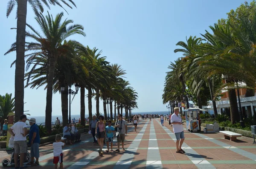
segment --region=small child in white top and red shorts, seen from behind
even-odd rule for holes
[[[55,143],[52,144],[53,146],[53,163],[54,168],[57,169],[58,163],[60,163],[60,168],[63,169],[63,154],[62,154],[62,146],[65,144],[61,142],[61,135],[56,134]]]

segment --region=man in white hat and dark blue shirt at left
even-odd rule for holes
[[[30,118],[29,125],[29,144],[31,144],[30,154],[31,154],[31,161],[27,165],[37,166],[39,165],[39,144],[40,144],[40,136],[39,136],[39,128],[38,125],[35,124],[35,118]],[[35,158],[35,163],[34,163]]]

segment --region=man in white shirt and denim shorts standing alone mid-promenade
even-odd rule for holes
[[[171,124],[173,127],[173,132],[175,133],[176,136],[176,149],[177,153],[185,153],[183,149],[181,149],[181,146],[185,140],[184,137],[184,131],[183,131],[183,125],[182,125],[182,119],[179,115],[179,107],[174,108],[174,113],[171,116]]]

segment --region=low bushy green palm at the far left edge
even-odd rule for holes
[[[12,98],[12,93],[0,95],[0,123],[7,118],[8,114],[15,111],[15,98]],[[3,123],[2,123],[3,124]]]

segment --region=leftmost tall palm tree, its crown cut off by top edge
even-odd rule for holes
[[[68,0],[74,6],[76,4],[73,0]],[[39,14],[44,11],[42,3],[44,3],[47,8],[50,8],[50,5],[61,6],[61,3],[58,0],[9,0],[7,3],[6,17],[9,17],[13,8],[17,5],[17,35],[16,35],[16,62],[15,65],[15,121],[18,121],[20,115],[24,111],[24,72],[25,72],[25,37],[26,37],[26,14],[27,14],[27,3],[29,3],[35,12]],[[66,0],[61,0],[62,3],[72,8]],[[63,8],[61,6],[61,8]],[[39,10],[39,11],[38,11]]]

